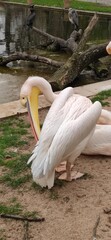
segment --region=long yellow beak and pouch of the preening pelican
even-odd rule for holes
[[[27,99],[27,109],[29,113],[30,123],[32,127],[32,131],[36,141],[39,140],[40,136],[40,124],[38,117],[38,95],[40,94],[40,90],[36,87],[32,88],[30,96]]]

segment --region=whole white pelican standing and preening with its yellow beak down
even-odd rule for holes
[[[52,103],[40,133],[37,98],[43,93]],[[66,161],[67,180],[71,180],[71,164],[83,152],[101,114],[101,104],[74,94],[68,87],[55,94],[42,77],[29,77],[20,93],[22,104],[27,103],[36,140],[29,162],[33,180],[42,187],[53,187],[55,168]]]

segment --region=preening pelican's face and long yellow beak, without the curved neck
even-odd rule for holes
[[[40,124],[38,117],[38,96],[41,91],[34,85],[32,77],[29,77],[23,84],[20,91],[20,102],[24,107],[27,107],[31,127],[34,137],[38,141],[40,136]]]

